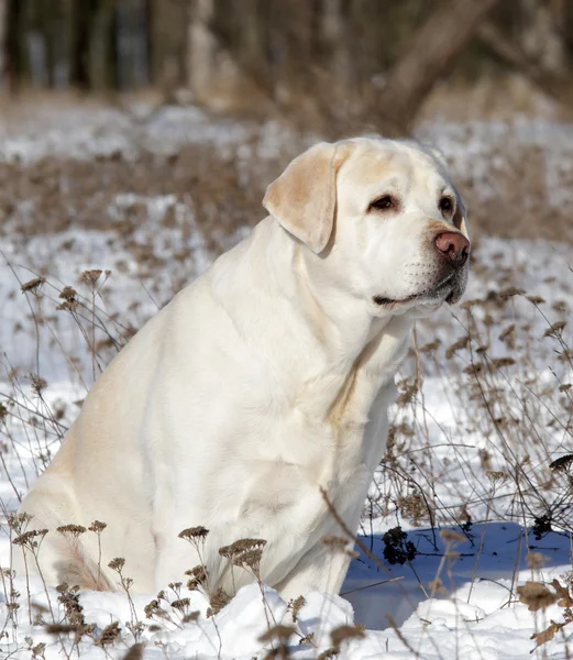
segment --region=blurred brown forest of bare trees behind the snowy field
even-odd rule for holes
[[[430,92],[517,72],[573,102],[573,0],[0,0],[0,85],[407,132]]]

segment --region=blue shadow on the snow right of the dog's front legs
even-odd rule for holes
[[[452,531],[461,534],[460,528],[452,528]],[[482,535],[483,547],[480,551]],[[385,543],[382,535],[359,538],[379,558],[382,565],[377,565],[356,548],[360,557],[350,565],[341,595],[352,603],[356,623],[370,629],[388,627],[388,616],[397,626],[401,626],[418,604],[428,597],[449,597],[461,590],[458,597],[467,600],[474,571],[475,582],[471,592],[473,598],[477,596],[484,581],[499,590],[502,600],[504,593],[506,602],[510,597],[515,598],[516,585],[511,594],[513,578],[515,575],[517,581],[519,571],[528,569],[529,552],[544,556],[546,570],[561,565],[563,572],[571,569],[571,547],[566,536],[549,532],[538,540],[530,529],[515,522],[473,525],[462,542],[450,544],[450,552],[459,554],[452,559],[444,557],[447,542],[440,538],[438,529],[412,529],[408,531],[407,540],[414,543],[416,557],[404,564],[389,564],[384,559]],[[437,576],[441,579],[447,595],[432,593],[430,583]],[[390,581],[393,579],[398,580]],[[383,584],[377,584],[383,581]]]

